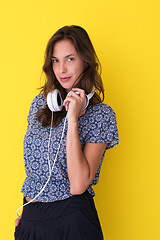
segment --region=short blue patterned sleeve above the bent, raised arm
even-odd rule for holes
[[[119,143],[116,114],[106,104],[91,108],[86,130],[86,143],[108,143],[106,150]]]

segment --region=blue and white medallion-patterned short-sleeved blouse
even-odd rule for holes
[[[33,199],[43,188],[49,177],[48,166],[48,141],[50,127],[42,127],[37,121],[36,113],[43,108],[46,100],[42,94],[36,96],[32,101],[29,115],[27,118],[28,127],[24,137],[24,164],[26,170],[26,179],[21,192],[24,197]],[[49,145],[49,159],[51,168],[59,147],[65,118],[56,128],[51,130],[51,140]],[[79,118],[79,136],[82,149],[86,143],[108,143],[106,150],[116,146],[119,143],[116,115],[113,109],[103,103],[99,103],[89,109]],[[39,202],[53,202],[66,199],[71,195],[70,183],[67,173],[66,163],[66,136],[67,123],[64,131],[64,137],[57,160],[55,162],[52,176],[44,191],[36,198]],[[106,152],[105,150],[105,152]],[[95,195],[92,185],[97,184],[105,152],[95,174],[88,192]]]

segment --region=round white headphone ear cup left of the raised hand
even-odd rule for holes
[[[52,112],[60,112],[63,108],[63,99],[61,92],[58,89],[54,89],[47,95],[47,105]]]

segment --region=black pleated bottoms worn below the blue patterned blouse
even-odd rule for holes
[[[28,204],[14,236],[15,240],[103,240],[94,200],[87,191],[61,201]]]

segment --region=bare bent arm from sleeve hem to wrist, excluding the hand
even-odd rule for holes
[[[86,143],[82,152],[78,123],[69,123],[67,131],[67,169],[70,192],[83,193],[94,179],[107,143]]]

